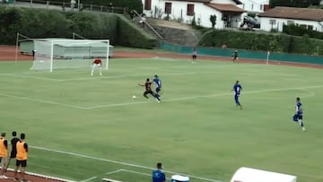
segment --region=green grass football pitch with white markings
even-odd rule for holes
[[[90,67],[30,67],[0,63],[0,130],[7,139],[26,133],[27,171],[148,182],[162,161],[167,178],[194,182],[229,182],[240,167],[323,181],[322,70],[170,58],[111,59],[102,77],[91,77]],[[160,104],[144,100],[138,86],[153,74],[162,79]],[[231,92],[236,80],[242,110]],[[292,122],[296,97],[306,132]]]

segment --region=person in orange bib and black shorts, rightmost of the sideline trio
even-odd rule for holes
[[[14,168],[14,179],[19,180],[19,178],[17,178],[17,173],[18,173],[18,169],[22,167],[21,169],[22,182],[28,181],[24,178],[24,173],[27,167],[27,159],[28,159],[28,144],[25,142],[25,137],[26,137],[25,134],[21,134],[21,138],[16,144],[17,156],[16,156],[16,166]]]

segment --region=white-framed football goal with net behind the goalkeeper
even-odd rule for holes
[[[33,39],[31,70],[90,67],[100,57],[109,68],[109,39]]]

